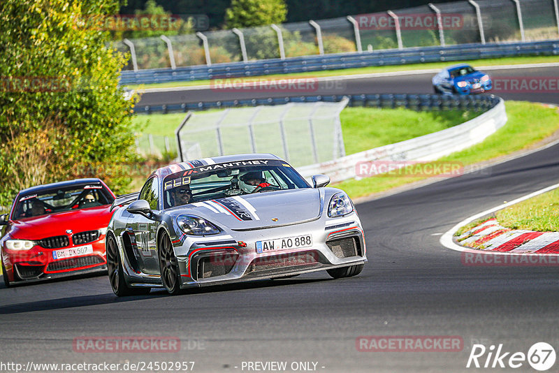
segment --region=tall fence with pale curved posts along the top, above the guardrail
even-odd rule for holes
[[[115,43],[132,54],[124,69],[405,47],[559,38],[559,0],[467,0],[330,20],[208,31]],[[133,45],[133,46],[131,46]],[[134,63],[136,61],[136,64]],[[136,67],[135,67],[136,66]]]

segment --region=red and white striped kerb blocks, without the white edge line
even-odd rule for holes
[[[559,254],[558,232],[513,230],[488,219],[458,236],[458,242],[472,249],[511,254]]]

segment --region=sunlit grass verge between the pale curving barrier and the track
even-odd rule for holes
[[[537,103],[507,101],[507,124],[483,142],[461,152],[445,156],[439,161],[457,161],[467,166],[472,163],[488,161],[512,152],[530,147],[551,136],[559,129],[559,112]],[[375,176],[362,180],[347,180],[336,184],[351,198],[368,196],[393,189],[411,182],[425,180],[427,177]]]

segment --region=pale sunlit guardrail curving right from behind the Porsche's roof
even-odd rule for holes
[[[344,156],[334,161],[299,167],[298,171],[310,179],[323,173],[333,182],[342,182],[357,176],[356,167],[363,162],[374,161],[435,161],[442,156],[459,152],[483,141],[507,122],[507,112],[502,98],[493,97],[493,107],[463,124],[453,126],[419,138],[377,147]]]

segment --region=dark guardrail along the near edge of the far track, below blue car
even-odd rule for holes
[[[412,110],[475,110],[485,111],[498,103],[493,95],[444,95],[444,94],[349,94],[333,96],[284,96],[274,98],[249,98],[230,101],[200,101],[173,105],[145,105],[134,108],[136,114],[168,112],[188,112],[220,108],[240,108],[242,106],[284,105],[286,103],[314,103],[318,101],[338,102],[349,98],[348,106],[371,108],[408,108]]]

